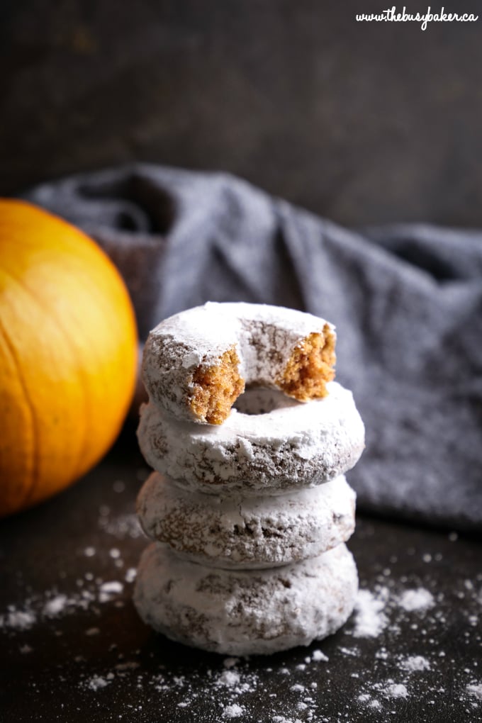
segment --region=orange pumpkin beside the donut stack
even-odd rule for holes
[[[132,304],[106,254],[60,218],[0,200],[0,515],[106,453],[136,369]]]

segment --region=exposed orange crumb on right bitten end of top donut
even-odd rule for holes
[[[335,335],[325,324],[322,333],[309,334],[293,349],[277,384],[298,401],[319,399],[327,395],[327,382],[335,378],[335,361]]]

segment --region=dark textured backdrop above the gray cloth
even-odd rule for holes
[[[482,20],[354,20],[389,5],[3,0],[0,193],[136,160],[348,225],[481,226]]]

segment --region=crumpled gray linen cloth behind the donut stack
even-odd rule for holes
[[[227,174],[132,165],[25,198],[81,226],[119,266],[145,339],[211,301],[304,309],[337,327],[337,380],[366,450],[358,508],[482,528],[482,234],[340,228]]]

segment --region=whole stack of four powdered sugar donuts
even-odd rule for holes
[[[165,636],[229,655],[334,633],[358,591],[345,546],[364,446],[335,330],[294,309],[216,304],[150,333],[138,437],[155,470],[134,603]]]

